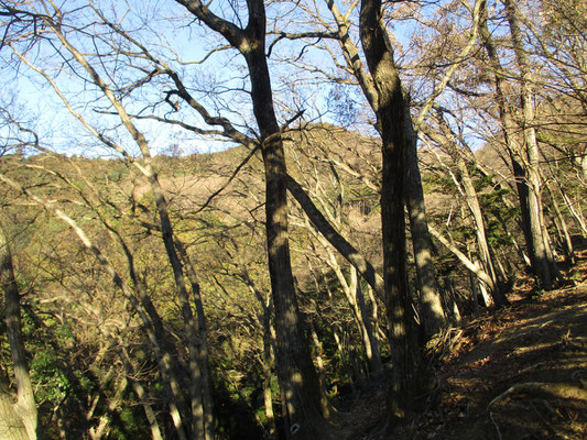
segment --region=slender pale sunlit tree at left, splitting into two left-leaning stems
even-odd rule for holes
[[[109,23],[106,16],[98,9],[94,8],[93,6],[89,8],[98,16],[98,19],[102,20],[107,26],[109,25],[115,35],[124,35],[119,29]],[[142,161],[135,161],[122,146],[100,133],[73,108],[65,95],[59,90],[56,81],[50,77],[47,70],[43,70],[43,68],[35,66],[30,59],[26,58],[25,54],[19,52],[17,46],[21,43],[22,38],[26,38],[25,35],[17,33],[12,40],[7,40],[8,45],[12,48],[15,56],[48,82],[48,85],[55,90],[56,95],[61,98],[66,109],[91,135],[95,136],[97,141],[101,142],[108,148],[118,152],[120,155],[130,161],[130,163],[132,163],[133,166],[148,179],[159,217],[159,224],[156,226],[156,229],[161,232],[161,239],[165,248],[170,266],[172,268],[174,283],[176,286],[176,294],[181,304],[184,329],[187,336],[191,393],[189,404],[187,405],[187,408],[189,408],[189,431],[192,432],[192,436],[195,436],[195,438],[211,439],[214,430],[211,417],[211,383],[209,373],[207,373],[208,359],[205,343],[206,336],[202,333],[203,331],[205,332],[205,321],[202,315],[202,307],[197,307],[197,310],[200,312],[198,317],[199,322],[197,322],[196,318],[194,317],[192,311],[192,301],[186,286],[186,274],[184,271],[187,272],[187,278],[192,284],[193,295],[196,299],[196,302],[199,298],[199,287],[194,276],[194,271],[191,267],[189,260],[183,255],[182,262],[180,256],[181,252],[177,251],[178,241],[171,221],[169,202],[163,194],[157,178],[157,172],[153,164],[149,142],[146,141],[144,134],[131,120],[119,96],[117,96],[111,86],[102,78],[102,75],[100,75],[98,69],[93,66],[90,61],[88,61],[88,56],[84,55],[84,53],[78,50],[74,43],[72,43],[69,40],[70,35],[64,32],[64,12],[61,9],[51,2],[41,1],[36,2],[35,4],[31,4],[30,9],[15,9],[11,8],[10,6],[3,6],[3,14],[13,16],[13,20],[17,22],[28,22],[30,25],[33,25],[33,23],[36,25],[36,23],[40,22],[46,26],[47,34],[51,33],[55,38],[55,43],[58,44],[55,46],[57,53],[63,57],[69,57],[72,63],[75,63],[76,66],[81,69],[81,72],[86,73],[87,82],[96,87],[96,90],[99,90],[99,92],[102,94],[106,102],[111,106],[115,114],[119,118],[120,123],[122,127],[124,127],[127,133],[131,136],[141,152]],[[74,33],[76,30],[78,29],[74,28]],[[124,36],[128,37],[128,35]],[[98,35],[90,35],[90,40],[91,38],[98,38]],[[24,43],[26,44],[28,42],[25,41]],[[96,56],[98,58],[100,57],[99,51]],[[120,276],[118,277],[120,278]],[[161,341],[159,343],[161,343]],[[171,361],[167,359],[167,363]],[[176,391],[176,394],[178,394],[178,389]],[[184,428],[182,427],[180,415],[175,413],[175,416],[176,417],[174,421],[176,424],[176,429],[182,436]],[[184,432],[183,436],[186,436],[186,433]]]

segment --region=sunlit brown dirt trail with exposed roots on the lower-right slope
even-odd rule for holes
[[[587,283],[469,326],[414,439],[587,438]]]

